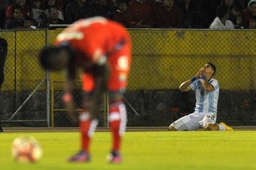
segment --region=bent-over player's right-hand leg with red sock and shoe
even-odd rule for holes
[[[127,115],[126,106],[123,103],[119,92],[109,92],[110,112],[108,121],[112,131],[112,151],[107,157],[110,163],[120,163],[122,161],[120,154],[121,138],[126,130]]]

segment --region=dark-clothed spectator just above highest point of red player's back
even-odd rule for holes
[[[104,16],[108,19],[113,19],[115,10],[112,0],[96,0],[92,6],[93,16]]]

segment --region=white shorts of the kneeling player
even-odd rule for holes
[[[170,126],[177,131],[194,131],[200,127],[206,128],[208,124],[216,123],[216,113],[193,113],[174,121]]]

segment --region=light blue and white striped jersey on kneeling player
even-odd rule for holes
[[[190,84],[192,90],[196,92],[196,113],[217,113],[219,99],[219,83],[216,79],[211,78],[208,83],[212,84],[215,90],[207,92],[201,85],[201,80],[196,80]]]

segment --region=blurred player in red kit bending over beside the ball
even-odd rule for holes
[[[108,161],[121,162],[121,136],[126,129],[126,107],[121,93],[127,86],[131,62],[131,41],[127,30],[102,17],[82,19],[63,30],[54,47],[40,53],[40,63],[52,71],[67,69],[66,93],[63,96],[69,114],[73,114],[73,87],[77,69],[82,69],[85,98],[79,114],[82,148],[69,161],[90,160],[90,139],[98,124],[99,101],[108,90],[108,121],[113,146]]]

